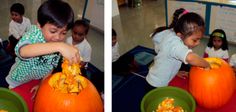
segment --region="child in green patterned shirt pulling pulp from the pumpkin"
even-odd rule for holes
[[[6,77],[9,88],[34,79],[45,79],[57,66],[61,55],[70,64],[80,61],[78,49],[64,43],[74,20],[68,3],[61,0],[44,2],[38,9],[37,20],[37,26],[32,25],[15,47],[16,62]],[[33,87],[32,91],[37,88]]]

